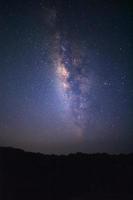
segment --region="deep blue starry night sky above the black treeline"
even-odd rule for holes
[[[133,151],[131,1],[0,5],[0,146]]]

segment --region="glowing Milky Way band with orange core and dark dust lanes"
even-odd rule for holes
[[[91,81],[86,75],[83,64],[82,50],[78,46],[63,38],[61,34],[56,35],[55,70],[58,79],[58,87],[63,94],[62,101],[67,103],[73,116],[73,122],[82,130],[88,123],[88,94]],[[65,113],[64,113],[65,114]]]

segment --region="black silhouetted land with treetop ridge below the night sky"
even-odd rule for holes
[[[55,156],[1,147],[0,199],[133,199],[133,154]]]

